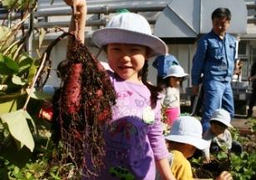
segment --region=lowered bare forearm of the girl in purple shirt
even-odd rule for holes
[[[156,168],[160,172],[160,176],[162,180],[175,180],[173,173],[170,170],[170,164],[167,158],[163,158],[155,161]]]

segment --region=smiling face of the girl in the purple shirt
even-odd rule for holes
[[[139,72],[147,59],[146,46],[112,43],[106,47],[111,69],[124,80],[140,82]]]

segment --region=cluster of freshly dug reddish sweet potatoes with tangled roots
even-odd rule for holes
[[[60,100],[55,104],[59,109],[57,139],[62,142],[61,159],[56,162],[73,163],[75,179],[81,178],[81,169],[93,179],[104,166],[102,125],[111,119],[116,93],[107,72],[86,46],[76,41],[68,57]],[[65,178],[70,169],[62,171]]]

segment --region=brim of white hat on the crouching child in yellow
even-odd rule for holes
[[[183,144],[190,144],[195,148],[204,149],[209,146],[209,142],[204,139],[197,139],[191,136],[185,135],[167,135],[165,136],[166,140],[175,141]]]

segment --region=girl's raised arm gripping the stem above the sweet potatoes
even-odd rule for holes
[[[69,32],[75,32],[76,31],[76,21],[77,21],[77,33],[76,38],[81,41],[81,43],[85,42],[85,29],[86,29],[86,0],[63,0],[66,2],[67,5],[71,7],[76,7],[76,15],[75,17],[71,17],[71,23],[69,26]],[[73,4],[74,3],[74,4]],[[67,55],[69,54],[69,51],[71,50],[71,47],[73,45],[73,41],[71,38],[69,38],[67,43]]]

